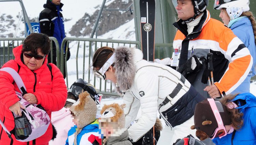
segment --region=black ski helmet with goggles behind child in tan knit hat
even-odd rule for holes
[[[96,104],[100,104],[101,94],[97,92],[96,88],[90,83],[84,81],[82,78],[77,79],[69,88],[68,95],[72,95],[76,101],[79,99],[79,94],[87,91]]]

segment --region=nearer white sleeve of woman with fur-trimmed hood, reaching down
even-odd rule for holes
[[[137,93],[144,92],[144,96],[140,98],[141,117],[128,129],[129,138],[136,142],[156,122],[159,78],[150,72],[140,72],[140,74],[137,73],[134,83]]]

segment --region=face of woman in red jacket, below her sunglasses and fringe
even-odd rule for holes
[[[45,59],[46,55],[44,55],[41,52],[41,49],[37,49],[37,56],[32,56],[32,58],[29,58],[31,56],[32,56],[31,52],[24,52],[23,53],[23,60],[24,60],[25,65],[30,70],[37,70],[37,69],[39,69],[43,65],[43,62],[44,62],[44,59]],[[35,57],[36,58],[40,58],[41,57],[42,59],[37,60],[37,59],[35,59]]]

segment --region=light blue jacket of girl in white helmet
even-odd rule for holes
[[[253,57],[253,65],[251,71],[249,72],[245,80],[231,93],[236,94],[250,92],[250,80],[251,77],[256,74],[256,46],[252,24],[248,17],[244,17],[233,23],[230,29],[249,49],[251,56]]]

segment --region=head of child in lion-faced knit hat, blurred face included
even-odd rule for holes
[[[118,105],[117,103],[110,105],[104,104],[100,112],[99,128],[101,130],[111,128],[112,132],[109,136],[119,136],[122,134],[125,128],[125,114],[123,109],[125,106],[125,104]],[[106,134],[104,134],[104,136],[105,135]]]

